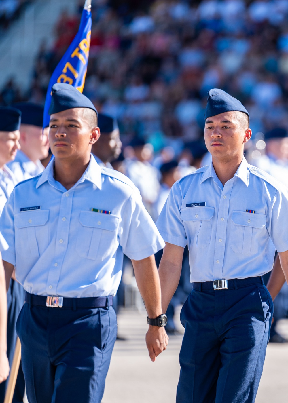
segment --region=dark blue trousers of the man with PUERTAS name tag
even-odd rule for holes
[[[253,403],[272,314],[262,284],[193,289],[180,314],[185,333],[176,403]]]

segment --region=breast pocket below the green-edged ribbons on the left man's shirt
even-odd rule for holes
[[[104,260],[117,245],[119,217],[113,214],[81,211],[76,251],[81,258]]]

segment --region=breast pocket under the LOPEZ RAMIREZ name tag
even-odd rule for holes
[[[49,210],[32,210],[15,214],[15,249],[23,259],[38,258],[49,244]]]

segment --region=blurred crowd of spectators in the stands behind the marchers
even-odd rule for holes
[[[50,75],[79,27],[82,3],[77,14],[61,15],[54,47],[39,50],[29,93],[10,81],[2,103],[19,97],[44,103]],[[201,137],[211,87],[244,103],[254,136],[287,125],[286,0],[158,0],[138,10],[94,0],[92,17],[84,92],[117,117],[121,135],[137,133],[156,152],[172,145],[178,153],[183,142]]]

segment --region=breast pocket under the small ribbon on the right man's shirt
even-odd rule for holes
[[[259,236],[266,225],[266,215],[234,211],[230,247],[235,253],[257,253]]]

